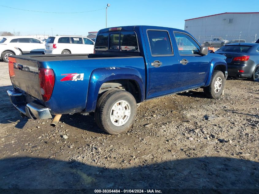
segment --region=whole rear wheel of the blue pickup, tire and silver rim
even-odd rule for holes
[[[109,134],[127,131],[137,114],[137,104],[125,90],[108,90],[98,99],[95,109],[97,125]]]

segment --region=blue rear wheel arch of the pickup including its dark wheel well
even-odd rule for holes
[[[137,103],[144,100],[145,84],[138,70],[133,68],[99,68],[92,72],[87,92],[86,110],[95,110],[98,95],[110,88],[125,89]]]

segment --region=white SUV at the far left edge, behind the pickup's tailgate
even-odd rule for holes
[[[41,40],[28,37],[28,36],[8,36],[4,37],[0,44],[6,44],[10,47],[17,47],[22,54],[29,53],[43,53],[44,54],[44,44]]]

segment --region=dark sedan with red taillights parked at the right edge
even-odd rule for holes
[[[259,44],[234,43],[227,44],[215,53],[227,57],[229,76],[249,78],[257,81],[259,78]]]

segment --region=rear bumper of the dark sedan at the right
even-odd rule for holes
[[[253,75],[255,66],[242,64],[242,65],[227,65],[227,71],[229,76],[251,78]],[[239,72],[242,70],[244,72]]]

